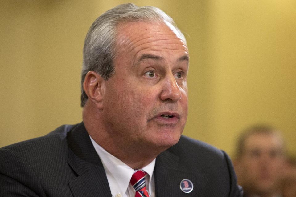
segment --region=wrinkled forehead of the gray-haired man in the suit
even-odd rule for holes
[[[181,34],[165,22],[124,22],[117,26],[117,50],[133,53],[176,52],[188,55],[188,48]]]

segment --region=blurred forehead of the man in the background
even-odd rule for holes
[[[283,147],[282,138],[276,133],[254,133],[245,139],[244,149],[270,150]]]

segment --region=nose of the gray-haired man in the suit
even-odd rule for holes
[[[164,82],[163,89],[160,95],[160,99],[163,101],[178,101],[182,97],[180,87],[176,82],[176,79],[173,74],[169,74]]]

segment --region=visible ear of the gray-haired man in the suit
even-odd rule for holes
[[[88,99],[97,108],[103,108],[103,98],[105,95],[105,80],[95,71],[88,71],[83,82],[83,89]]]

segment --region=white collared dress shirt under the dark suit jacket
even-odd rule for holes
[[[90,136],[89,136],[90,137]],[[134,197],[135,190],[130,184],[130,179],[134,173],[134,169],[123,163],[118,158],[114,157],[108,153],[104,148],[97,144],[92,137],[90,137],[93,147],[96,149],[99,155],[106,175],[108,183],[110,186],[111,194],[113,197]],[[155,187],[154,187],[154,166],[155,159],[149,163],[147,166],[143,167],[142,170],[147,172],[146,179],[146,189],[150,197],[155,197]],[[137,169],[140,170],[140,169]]]

